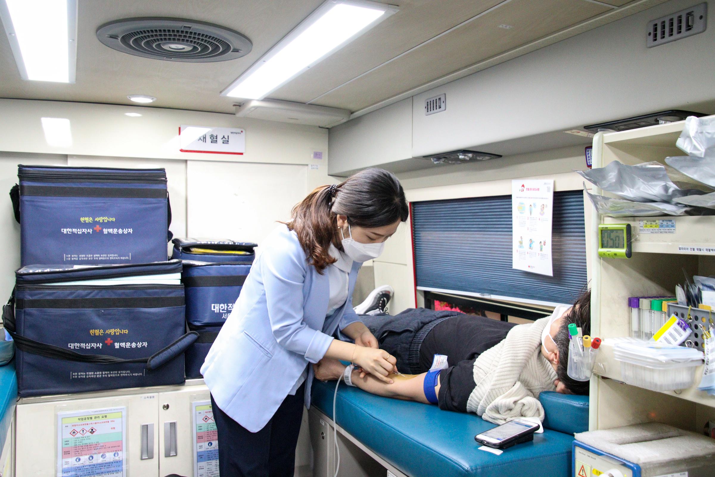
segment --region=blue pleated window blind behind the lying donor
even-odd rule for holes
[[[514,270],[511,195],[413,202],[417,286],[571,303],[586,285],[583,192],[553,195],[553,277]]]

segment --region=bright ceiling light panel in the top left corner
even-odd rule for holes
[[[22,79],[74,83],[77,61],[77,0],[0,0]]]

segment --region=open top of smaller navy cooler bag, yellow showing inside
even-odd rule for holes
[[[172,258],[200,262],[252,263],[256,256],[254,249],[258,247],[252,242],[235,240],[175,238],[172,242]]]

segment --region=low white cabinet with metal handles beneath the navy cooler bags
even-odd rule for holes
[[[124,408],[127,477],[193,476],[192,402],[209,400],[207,387],[195,381],[194,385],[21,400],[16,408],[15,475],[57,475],[58,413]]]

